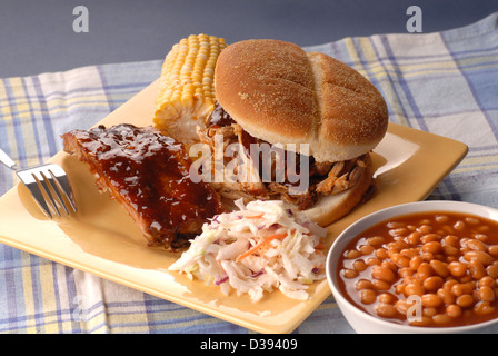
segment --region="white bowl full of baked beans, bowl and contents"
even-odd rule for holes
[[[327,279],[357,333],[498,332],[498,209],[419,201],[345,229]]]

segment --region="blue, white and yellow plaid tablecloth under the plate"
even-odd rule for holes
[[[459,29],[308,47],[356,68],[390,120],[469,146],[429,199],[498,207],[498,13]],[[167,51],[167,49],[165,49]],[[0,79],[0,147],[21,167],[61,150],[159,77],[162,59]],[[0,195],[17,182],[0,168]],[[86,322],[78,295],[89,296]],[[88,303],[88,300],[86,300]],[[352,333],[328,298],[297,333]],[[0,333],[248,333],[246,328],[0,245]]]

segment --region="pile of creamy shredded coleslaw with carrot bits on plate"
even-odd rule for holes
[[[306,289],[325,278],[321,239],[327,230],[283,201],[255,200],[239,210],[215,216],[201,235],[169,269],[219,286],[229,295],[248,294],[259,301],[265,291],[279,289],[290,298],[307,300]]]

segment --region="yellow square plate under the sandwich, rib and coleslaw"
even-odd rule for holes
[[[99,123],[151,125],[157,89],[158,81]],[[369,212],[425,199],[466,154],[467,146],[461,142],[389,125],[372,155],[377,191],[368,202],[329,227],[327,246],[343,228]],[[107,194],[98,192],[84,164],[64,152],[51,161],[68,172],[78,214],[48,220],[26,187],[18,185],[0,198],[1,243],[260,333],[292,332],[330,295],[323,279],[311,286],[307,301],[275,291],[255,304],[247,296],[223,296],[217,287],[169,271],[168,266],[179,254],[147,247],[124,209]]]

